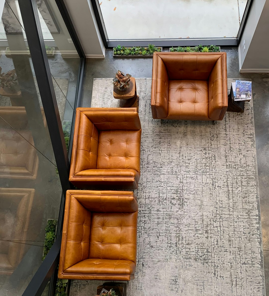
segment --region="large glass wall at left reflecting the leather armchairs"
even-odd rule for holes
[[[80,59],[54,1],[36,3],[68,144]],[[0,295],[21,296],[62,189],[18,2],[0,15]]]

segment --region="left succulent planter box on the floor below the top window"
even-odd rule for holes
[[[156,47],[154,44],[148,44],[147,47],[124,47],[119,44],[113,48],[113,57],[152,57],[153,52],[162,51],[162,47]]]

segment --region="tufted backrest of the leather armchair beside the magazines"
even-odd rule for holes
[[[209,75],[221,55],[169,54],[158,55],[166,66],[169,80],[208,80]]]

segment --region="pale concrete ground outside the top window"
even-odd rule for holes
[[[154,4],[99,0],[99,4],[110,40],[158,40],[236,37],[247,0],[159,0]]]

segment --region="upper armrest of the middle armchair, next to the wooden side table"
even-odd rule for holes
[[[141,129],[137,108],[77,108],[99,131]]]

